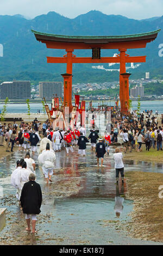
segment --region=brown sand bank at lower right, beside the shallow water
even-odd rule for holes
[[[163,241],[163,198],[159,198],[163,175],[150,172],[127,172],[126,198],[134,200],[128,234],[138,239]],[[163,186],[162,186],[163,187]]]

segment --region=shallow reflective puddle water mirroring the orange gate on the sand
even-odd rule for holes
[[[75,148],[77,150],[77,148]],[[10,174],[15,169],[15,163],[25,153],[15,152],[12,156],[4,158],[0,162],[0,185],[3,187],[4,196],[15,194],[16,190],[10,185]],[[116,244],[127,244],[135,242],[125,235],[118,233],[114,228],[104,227],[102,220],[128,220],[128,214],[133,209],[133,202],[125,199],[127,191],[126,183],[122,186],[115,185],[113,149],[110,155],[104,158],[104,167],[96,166],[95,153],[87,148],[86,158],[76,155],[65,156],[65,151],[56,153],[55,175],[52,184],[46,185],[41,168],[38,167],[37,154],[34,156],[36,162],[36,178],[42,188],[43,204],[39,219],[48,213],[51,214],[47,220],[38,224],[41,241],[48,243],[47,233],[52,241],[54,237],[64,237],[64,240],[54,240],[51,244],[87,244],[101,245],[113,241]],[[85,160],[86,159],[86,160]],[[125,170],[143,170],[162,172],[162,164],[138,162],[125,160]],[[73,184],[73,187],[69,187]],[[54,193],[55,192],[55,193]],[[0,199],[1,202],[1,199]],[[2,203],[1,203],[2,205]],[[8,210],[17,212],[18,220],[22,214],[17,205],[5,205]],[[121,212],[116,217],[115,208]],[[4,229],[5,231],[5,229]],[[125,237],[125,239],[124,239]],[[122,240],[120,242],[120,240]],[[39,242],[37,242],[38,244]]]

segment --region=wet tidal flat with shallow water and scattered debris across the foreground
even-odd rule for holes
[[[78,148],[74,148],[77,153]],[[0,245],[151,245],[127,235],[126,226],[132,222],[134,198],[128,194],[128,179],[124,186],[115,184],[115,168],[111,147],[104,158],[104,167],[97,167],[95,153],[87,147],[86,157],[76,153],[66,157],[65,150],[56,153],[53,182],[46,185],[42,169],[37,162],[36,177],[42,188],[41,214],[36,224],[37,234],[27,232],[26,221],[15,198],[15,188],[10,185],[10,174],[17,159],[24,153],[16,151],[0,162],[0,186],[3,187],[1,206],[7,207],[7,225],[0,233]],[[129,170],[146,165],[125,161],[126,176]],[[150,167],[153,169],[153,166]],[[159,167],[158,167],[159,168]],[[157,169],[155,169],[156,171]],[[160,172],[162,169],[160,167]],[[155,175],[155,173],[154,173]],[[128,176],[127,176],[128,177]],[[123,198],[123,210],[115,215],[116,198]]]

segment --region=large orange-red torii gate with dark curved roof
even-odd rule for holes
[[[153,32],[133,35],[116,36],[68,36],[32,32],[38,41],[46,44],[47,48],[65,49],[63,57],[47,57],[47,63],[66,63],[64,77],[64,105],[72,111],[72,64],[73,63],[120,63],[120,102],[121,113],[127,114],[129,107],[129,73],[126,73],[126,63],[146,62],[146,56],[131,57],[127,49],[145,48],[147,42],[153,41],[158,35],[158,29]],[[92,49],[92,57],[76,57],[75,49]],[[101,49],[118,49],[116,57],[101,57]]]

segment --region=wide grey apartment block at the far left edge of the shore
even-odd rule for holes
[[[0,84],[0,97],[4,100],[30,99],[30,81],[3,82]]]

